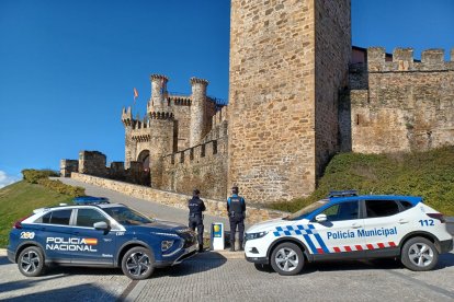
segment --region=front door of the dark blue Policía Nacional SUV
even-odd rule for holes
[[[115,249],[115,232],[97,230],[95,222],[110,223],[109,218],[101,210],[94,208],[79,208],[72,221],[71,252],[72,264],[83,265],[113,265]]]

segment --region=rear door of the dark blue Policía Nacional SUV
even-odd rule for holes
[[[71,260],[71,214],[72,209],[53,210],[34,222],[36,240],[44,247],[46,258],[54,263],[65,264]]]

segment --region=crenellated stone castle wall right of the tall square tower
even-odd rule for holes
[[[415,61],[411,48],[370,48],[351,67],[351,90],[340,108],[342,150],[408,152],[454,144],[454,51],[430,49]],[[349,108],[350,107],[350,108]],[[349,130],[351,137],[349,137]]]

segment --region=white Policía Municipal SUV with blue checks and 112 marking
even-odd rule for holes
[[[336,191],[284,219],[246,233],[246,259],[296,275],[305,262],[399,257],[411,270],[430,270],[453,248],[443,216],[411,196]]]

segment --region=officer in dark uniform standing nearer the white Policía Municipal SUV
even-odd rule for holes
[[[231,188],[231,196],[227,199],[227,212],[230,221],[230,251],[235,251],[235,233],[239,236],[239,251],[245,251],[242,247],[242,240],[245,236],[245,217],[246,217],[246,201],[245,198],[238,196],[238,187]]]

